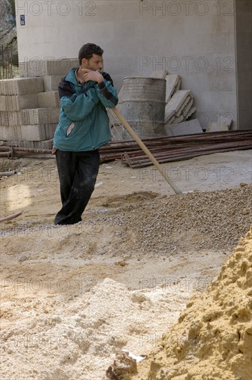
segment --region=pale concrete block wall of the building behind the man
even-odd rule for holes
[[[94,42],[118,90],[126,76],[166,68],[193,91],[202,126],[220,114],[237,125],[233,0],[17,0],[16,9],[20,62],[76,58]]]

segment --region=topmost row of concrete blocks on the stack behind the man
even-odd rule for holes
[[[64,77],[71,68],[78,66],[78,59],[30,59],[19,63],[19,73],[21,77]]]

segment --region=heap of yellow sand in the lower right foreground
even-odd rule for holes
[[[134,368],[120,379],[251,379],[251,236],[252,229],[206,292],[191,298],[178,323],[137,363],[137,374]]]

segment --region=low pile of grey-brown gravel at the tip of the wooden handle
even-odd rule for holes
[[[123,226],[135,236],[133,249],[153,253],[233,249],[252,224],[252,186],[185,193],[143,200],[88,220]],[[111,205],[112,206],[112,205]]]

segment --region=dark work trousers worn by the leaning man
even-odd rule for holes
[[[99,171],[99,151],[56,153],[62,208],[55,225],[73,225],[81,221],[90,196],[95,189]]]

